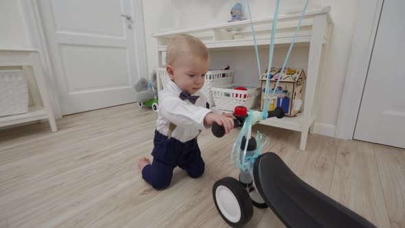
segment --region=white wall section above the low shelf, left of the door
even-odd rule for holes
[[[29,48],[20,1],[0,0],[0,48]]]

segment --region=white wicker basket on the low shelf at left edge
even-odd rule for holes
[[[23,71],[0,71],[0,117],[28,112],[28,87]]]

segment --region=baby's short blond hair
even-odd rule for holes
[[[208,49],[194,36],[180,34],[170,40],[166,51],[166,65],[173,65],[178,56],[190,53],[201,60],[209,60]]]

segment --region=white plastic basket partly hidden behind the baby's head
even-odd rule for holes
[[[164,89],[165,85],[167,84],[167,82],[169,82],[170,78],[167,75],[167,71],[164,67],[160,67],[157,72],[159,73],[159,77],[161,78],[161,82]],[[205,83],[200,91],[207,98],[209,106],[215,105],[214,104],[215,102],[211,94],[211,88],[231,84],[233,82],[233,76],[235,76],[235,70],[208,71],[205,74]]]

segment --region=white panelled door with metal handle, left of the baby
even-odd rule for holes
[[[39,0],[62,114],[135,102],[130,0]]]

